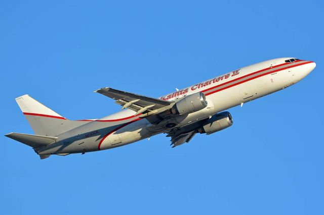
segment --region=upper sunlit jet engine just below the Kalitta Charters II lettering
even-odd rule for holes
[[[206,108],[206,106],[207,100],[205,94],[202,92],[197,92],[177,101],[171,111],[173,114],[183,115],[200,111],[201,109]]]

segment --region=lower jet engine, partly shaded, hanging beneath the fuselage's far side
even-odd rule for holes
[[[214,115],[207,123],[198,129],[200,134],[212,134],[233,125],[233,118],[229,112]]]

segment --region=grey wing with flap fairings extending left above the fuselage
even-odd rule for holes
[[[130,92],[105,87],[96,90],[100,94],[115,99],[115,103],[123,106],[121,109],[128,108],[136,112],[136,115],[142,114],[140,117],[147,117],[151,123],[157,123],[162,118],[159,115],[170,110],[175,102],[151,98],[143,95],[137,95]]]

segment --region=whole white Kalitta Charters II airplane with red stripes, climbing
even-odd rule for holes
[[[5,136],[32,147],[41,159],[115,148],[160,133],[176,147],[197,133],[209,135],[232,126],[227,109],[285,89],[315,67],[312,61],[277,58],[159,98],[105,87],[95,92],[114,99],[122,111],[95,120],[68,120],[26,94],[16,101],[35,134]]]

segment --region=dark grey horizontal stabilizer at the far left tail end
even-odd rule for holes
[[[21,133],[14,133],[14,132],[6,134],[5,136],[17,140],[26,145],[29,145],[33,148],[46,146],[57,140],[57,137],[49,137],[49,136],[33,135],[33,134],[21,134]]]

